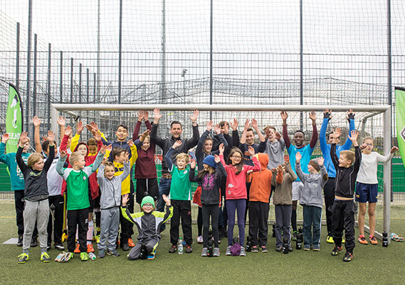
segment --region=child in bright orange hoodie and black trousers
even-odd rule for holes
[[[261,170],[251,173],[251,191],[249,193],[249,237],[252,241],[252,252],[268,252],[268,209],[270,203],[271,178],[273,174],[267,169],[268,155],[258,153]],[[281,183],[283,175],[278,173],[276,180]]]

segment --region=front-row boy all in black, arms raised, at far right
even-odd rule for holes
[[[340,158],[337,158],[336,143],[340,135],[342,135],[340,128],[337,128],[330,135],[332,139],[330,157],[332,157],[336,170],[335,202],[332,205],[332,234],[335,248],[331,254],[335,256],[342,250],[342,232],[344,229],[346,233],[346,243],[344,244],[346,254],[344,254],[343,261],[352,261],[354,249],[354,213],[357,212],[353,195],[362,153],[357,143],[359,132],[352,130],[349,139],[352,140],[354,152],[342,150]]]

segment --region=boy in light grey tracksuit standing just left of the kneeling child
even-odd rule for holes
[[[120,255],[115,250],[115,242],[117,239],[118,227],[120,226],[121,183],[128,175],[130,175],[130,162],[124,163],[124,172],[117,176],[115,176],[115,167],[112,162],[106,162],[98,168],[97,180],[101,192],[101,232],[100,242],[97,244],[97,247],[100,251],[98,254],[98,257],[100,258],[105,257],[107,239],[107,254],[114,257]]]

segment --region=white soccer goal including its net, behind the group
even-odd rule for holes
[[[288,132],[290,139],[295,130],[303,130],[305,133],[305,143],[310,142],[312,136],[312,121],[308,118],[310,111],[315,111],[317,115],[317,132],[320,133],[323,113],[325,109],[332,110],[332,119],[330,120],[326,133],[329,134],[332,128],[342,128],[341,143],[347,139],[349,133],[349,123],[347,121],[347,110],[352,109],[356,115],[354,118],[355,128],[359,130],[360,137],[358,142],[361,145],[362,138],[372,136],[374,138],[374,151],[381,154],[386,154],[391,150],[391,106],[390,105],[261,105],[256,102],[254,104],[246,105],[232,105],[232,104],[53,104],[51,106],[51,124],[55,133],[58,133],[57,118],[59,113],[65,113],[68,118],[83,120],[83,123],[89,123],[95,120],[98,123],[100,130],[102,130],[107,139],[114,140],[115,128],[120,123],[128,125],[130,129],[130,137],[132,137],[132,130],[137,122],[137,112],[139,110],[149,111],[149,120],[153,121],[153,110],[159,108],[163,114],[159,122],[159,136],[169,135],[169,125],[173,120],[179,120],[183,124],[183,137],[191,137],[191,123],[189,115],[192,110],[199,110],[199,123],[200,134],[206,130],[206,123],[213,120],[214,123],[219,123],[221,120],[233,122],[233,118],[238,120],[238,131],[241,136],[245,121],[247,118],[256,118],[258,120],[259,129],[263,130],[265,125],[273,125],[276,130],[281,134],[283,121],[280,118],[280,112],[286,111],[288,113]],[[142,125],[141,131],[144,130]],[[83,132],[85,133],[85,132]],[[231,133],[231,129],[230,129]],[[258,136],[256,135],[256,142]],[[83,134],[83,140],[86,134]],[[285,152],[287,155],[287,152]],[[312,157],[321,156],[322,152],[319,147],[319,140],[312,153]],[[157,169],[159,175],[159,160],[162,155],[159,147],[157,147]],[[395,157],[394,157],[395,158]],[[399,158],[397,158],[399,159]],[[382,219],[377,219],[376,236],[382,237],[382,232],[390,233],[390,206],[391,206],[391,192],[396,183],[391,183],[391,162],[386,162],[379,165],[379,202],[377,205],[378,211]],[[273,207],[270,207],[269,218],[274,219],[275,215],[272,214]],[[382,211],[382,213],[381,213]],[[196,217],[196,214],[194,215]],[[378,217],[378,216],[377,216]],[[298,217],[299,219],[299,217]],[[322,219],[325,219],[325,207],[322,211]],[[356,217],[357,219],[357,217]],[[366,218],[367,230],[367,218]]]

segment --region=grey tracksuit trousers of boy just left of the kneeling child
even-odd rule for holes
[[[100,220],[100,242],[97,244],[98,250],[115,249],[118,228],[120,227],[120,208],[101,209]]]

